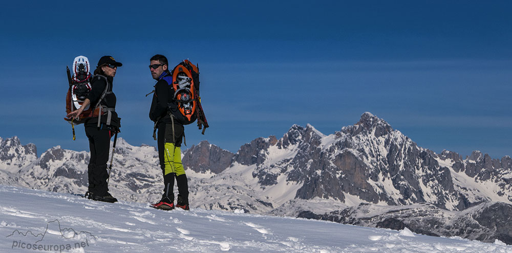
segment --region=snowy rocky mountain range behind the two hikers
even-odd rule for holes
[[[369,112],[325,135],[293,125],[237,153],[206,141],[183,155],[193,208],[326,219],[341,223],[512,244],[512,159],[474,151],[440,154]],[[86,151],[0,138],[0,183],[63,193],[87,189]],[[153,202],[162,178],[154,147],[118,139],[111,193]]]

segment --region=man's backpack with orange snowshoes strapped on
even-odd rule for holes
[[[199,97],[199,68],[189,60],[184,60],[174,67],[172,73],[173,99],[177,103],[177,108],[171,103],[169,112],[183,125],[194,123],[197,119],[199,129],[204,126],[202,131],[204,134],[208,122],[201,106],[201,97]]]

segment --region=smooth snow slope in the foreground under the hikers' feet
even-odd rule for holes
[[[0,252],[512,252],[499,241],[239,211],[161,211],[0,185]]]

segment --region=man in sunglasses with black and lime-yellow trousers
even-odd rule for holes
[[[169,110],[177,110],[174,101],[173,76],[168,71],[167,58],[155,55],[150,59],[150,71],[155,84],[155,93],[150,109],[150,119],[155,122],[155,131],[158,129],[158,156],[162,169],[164,190],[162,199],[152,206],[162,210],[173,210],[174,205],[174,178],[178,185],[178,200],[176,207],[188,208],[188,180],[185,169],[181,163],[181,142],[184,136],[183,124],[171,118]]]

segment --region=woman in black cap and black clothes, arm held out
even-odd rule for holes
[[[112,92],[112,84],[117,67],[122,65],[112,56],[101,57],[94,71],[94,77],[91,80],[91,91],[87,99],[78,110],[68,114],[68,118],[78,119],[84,108],[88,105],[94,106],[94,116],[96,117],[89,118],[84,123],[91,149],[91,159],[87,166],[89,189],[86,197],[111,203],[116,202],[117,199],[109,193],[107,181],[109,173],[106,164],[109,160],[110,139],[114,133],[119,132],[121,127],[121,119],[115,111],[116,95]]]

